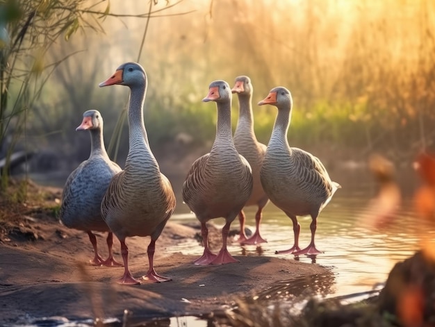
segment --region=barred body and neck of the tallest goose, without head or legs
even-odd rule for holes
[[[131,87],[129,154],[101,202],[101,215],[120,240],[135,235],[156,240],[176,205],[172,185],[149,149],[143,121],[145,92],[144,85]]]

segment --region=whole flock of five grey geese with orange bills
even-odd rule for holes
[[[126,62],[115,74],[99,84],[125,85],[130,88],[129,154],[121,169],[110,161],[103,140],[103,119],[97,110],[83,114],[76,130],[88,130],[91,152],[88,160],[69,175],[63,190],[60,220],[69,228],[85,230],[95,251],[93,265],[122,266],[113,258],[113,233],[120,240],[124,274],[122,284],[138,284],[129,270],[126,237],[150,236],[147,254],[149,269],[142,278],[153,282],[170,280],[156,273],[154,251],[158,237],[176,205],[170,181],[163,175],[154,158],[147,137],[143,104],[147,92],[147,74],[136,62]],[[183,201],[201,223],[204,253],[196,265],[219,265],[237,260],[227,250],[231,223],[240,220],[241,244],[266,242],[260,234],[262,210],[269,199],[293,221],[295,243],[286,251],[294,255],[316,255],[314,237],[317,217],[340,187],[331,181],[322,162],[306,151],[288,145],[293,101],[285,87],[274,87],[258,106],[278,108],[270,142],[266,147],[256,140],[252,114],[252,83],[247,76],[236,78],[231,89],[225,81],[213,81],[207,97],[217,106],[216,136],[211,151],[193,162],[183,183]],[[238,94],[240,115],[234,137],[231,131],[231,97]],[[245,206],[258,206],[256,231],[245,235]],[[311,215],[311,242],[299,247],[297,216]],[[224,217],[222,248],[215,254],[208,249],[207,221]],[[108,258],[97,250],[92,230],[108,232]]]

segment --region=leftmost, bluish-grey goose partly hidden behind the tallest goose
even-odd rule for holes
[[[101,217],[101,200],[112,177],[121,171],[121,167],[110,161],[103,139],[103,117],[98,110],[83,113],[83,121],[76,131],[89,131],[90,156],[69,174],[63,187],[59,217],[69,228],[85,230],[94,248],[92,265],[120,267],[113,259],[113,233]],[[92,230],[108,232],[108,258],[102,260],[97,249],[97,238]]]

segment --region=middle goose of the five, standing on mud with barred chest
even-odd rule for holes
[[[227,249],[231,222],[252,192],[252,170],[234,146],[231,131],[231,87],[225,81],[213,81],[207,97],[202,101],[215,101],[217,107],[216,136],[211,151],[193,162],[183,183],[183,201],[201,223],[204,253],[195,265],[223,265],[238,262]],[[208,249],[210,219],[224,217],[222,248],[215,255]]]

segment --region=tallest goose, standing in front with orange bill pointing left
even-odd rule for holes
[[[158,275],[154,269],[156,240],[161,235],[175,209],[175,195],[170,181],[160,171],[145,130],[143,104],[147,92],[147,74],[136,62],[126,62],[115,74],[99,84],[125,85],[130,88],[129,98],[129,154],[124,170],[113,176],[103,201],[101,215],[120,240],[124,275],[120,284],[139,284],[129,270],[129,249],[126,237],[150,236],[147,249],[149,269],[143,280],[154,283],[171,280]]]

